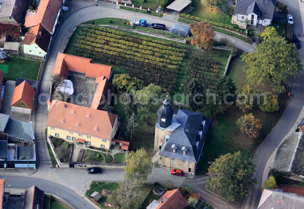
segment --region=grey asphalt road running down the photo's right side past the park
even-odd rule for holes
[[[304,63],[304,38],[303,38],[303,25],[301,18],[301,11],[298,0],[280,0],[280,2],[286,4],[294,18],[294,25],[292,30],[302,43],[302,48],[298,49],[299,59]],[[287,15],[286,15],[287,18]],[[303,64],[302,63],[302,64]],[[264,140],[264,143],[257,150],[254,160],[257,165],[255,177],[259,185],[256,185],[252,191],[250,197],[246,198],[242,209],[255,209],[257,208],[261,197],[261,185],[267,179],[269,167],[272,166],[273,158],[275,156],[278,146],[286,138],[287,135],[292,133],[296,128],[296,123],[299,122],[299,117],[304,115],[300,114],[304,106],[304,72],[301,72],[295,76],[295,82],[292,87],[292,98],[287,106],[284,115],[273,129],[273,131]],[[264,178],[263,178],[264,176]]]

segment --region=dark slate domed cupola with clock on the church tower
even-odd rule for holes
[[[161,128],[167,128],[171,125],[174,111],[170,106],[169,99],[164,100],[164,104],[157,111],[157,123]]]

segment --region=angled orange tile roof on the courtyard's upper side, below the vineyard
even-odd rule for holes
[[[74,72],[85,73],[86,77],[98,78],[105,76],[107,79],[110,79],[112,66],[91,63],[91,60],[92,59],[89,58],[59,52],[55,62],[53,76],[60,74],[66,78],[68,71],[71,70]]]

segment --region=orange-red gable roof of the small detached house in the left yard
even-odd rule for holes
[[[20,85],[16,86],[14,89],[11,106],[16,104],[20,99],[32,110],[33,99],[35,97],[35,90],[26,80],[24,80]]]

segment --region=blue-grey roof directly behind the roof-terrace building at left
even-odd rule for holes
[[[32,142],[35,140],[32,123],[9,119],[5,128],[5,133],[7,133],[9,137],[15,137]]]

